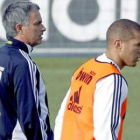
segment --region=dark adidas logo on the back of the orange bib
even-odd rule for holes
[[[79,88],[78,91],[74,92],[74,94],[70,97],[70,103],[67,105],[67,109],[69,111],[73,111],[77,114],[80,114],[82,111],[82,106],[79,105],[80,103],[80,93],[81,93],[82,86]]]

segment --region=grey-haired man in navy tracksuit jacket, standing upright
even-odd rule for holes
[[[46,30],[39,9],[16,2],[2,17],[8,41],[0,48],[1,140],[53,140],[45,85],[29,56]]]

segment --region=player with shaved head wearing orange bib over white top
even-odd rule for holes
[[[107,30],[107,50],[80,66],[56,117],[55,140],[121,140],[128,86],[121,69],[140,57],[140,25],[120,19]]]

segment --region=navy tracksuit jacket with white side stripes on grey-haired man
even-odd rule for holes
[[[28,47],[10,39],[0,48],[0,140],[53,140],[45,93]]]

